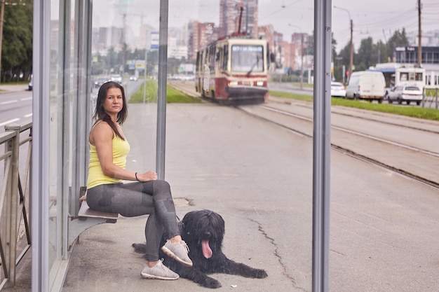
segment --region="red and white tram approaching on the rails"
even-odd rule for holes
[[[196,54],[195,89],[217,102],[264,102],[268,97],[268,43],[227,36]]]

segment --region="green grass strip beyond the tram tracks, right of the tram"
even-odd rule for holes
[[[305,102],[313,102],[312,95],[300,95],[290,92],[271,91],[273,97],[285,97],[297,99]],[[378,104],[376,102],[362,102],[358,100],[341,99],[337,97],[331,98],[333,106],[347,106],[356,109],[366,109],[368,111],[379,111],[381,113],[394,113],[400,116],[410,116],[413,118],[423,118],[426,120],[439,120],[439,110],[426,109],[419,106],[395,106],[392,104]]]

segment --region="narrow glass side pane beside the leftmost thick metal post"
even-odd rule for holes
[[[49,282],[52,284],[62,258],[65,238],[65,200],[72,179],[72,110],[76,102],[74,58],[75,2],[50,2],[50,164],[49,164]],[[67,25],[64,25],[67,24]],[[78,22],[76,22],[78,23]],[[63,231],[64,230],[64,231]]]

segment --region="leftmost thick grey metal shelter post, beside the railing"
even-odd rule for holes
[[[32,111],[32,292],[49,291],[49,64],[50,1],[34,0]]]

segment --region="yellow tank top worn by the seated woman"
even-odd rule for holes
[[[104,183],[121,183],[122,179],[114,179],[110,176],[106,176],[102,172],[102,167],[100,166],[99,158],[97,158],[96,147],[90,144],[90,162],[88,164],[88,179],[87,179],[87,189],[93,188],[94,186],[99,186]],[[122,140],[114,134],[113,138],[113,163],[119,167],[125,168],[126,157],[130,152],[130,144],[128,141]]]

